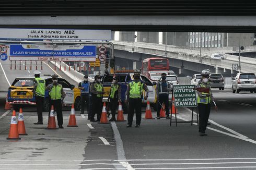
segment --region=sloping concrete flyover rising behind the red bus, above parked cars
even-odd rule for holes
[[[120,42],[114,43],[114,55],[118,58],[126,58],[135,61],[137,68],[141,67],[141,61],[148,57],[167,57],[170,60],[170,66],[179,68],[179,72],[195,71],[200,72],[202,69],[210,68],[216,73],[232,74],[232,64],[238,64],[238,56],[226,54],[226,59],[213,59],[210,57],[215,51],[200,51],[194,48],[184,48],[164,44],[152,44],[142,42]],[[252,47],[251,47],[252,48]],[[250,48],[250,50],[251,50]],[[134,50],[134,51],[133,51]],[[216,50],[216,49],[215,49]],[[220,49],[219,49],[220,50]],[[231,52],[231,48],[225,48],[225,52]],[[216,50],[217,51],[217,50]],[[256,72],[256,59],[241,57],[242,72]],[[186,74],[186,72],[184,72]]]

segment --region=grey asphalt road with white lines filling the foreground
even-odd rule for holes
[[[10,79],[15,76],[14,71],[8,74]],[[48,113],[43,114],[44,125],[33,125],[36,111],[27,108],[28,136],[8,141],[11,113],[1,107],[0,169],[256,169],[256,94],[231,90],[213,90],[213,94],[219,110],[211,111],[205,137],[199,136],[196,123],[176,127],[162,118],[126,128],[127,122],[91,123],[78,111],[78,127],[66,127],[70,113],[66,107],[64,129],[59,130],[45,129]],[[178,121],[191,118],[189,109],[178,113]]]

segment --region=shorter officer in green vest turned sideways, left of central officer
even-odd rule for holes
[[[111,107],[111,119],[110,122],[115,121],[115,110],[117,110],[118,102],[121,101],[121,86],[118,83],[118,77],[113,78],[114,83],[111,84],[109,92],[110,107]]]

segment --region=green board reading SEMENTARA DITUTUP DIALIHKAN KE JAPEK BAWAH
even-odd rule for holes
[[[193,85],[174,85],[173,96],[175,107],[196,107],[196,94]]]

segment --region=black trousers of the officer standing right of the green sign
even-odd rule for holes
[[[199,132],[205,132],[210,116],[211,104],[197,104],[199,112]]]

